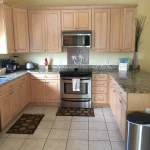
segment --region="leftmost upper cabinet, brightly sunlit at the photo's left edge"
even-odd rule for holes
[[[0,54],[14,52],[12,9],[0,4]]]

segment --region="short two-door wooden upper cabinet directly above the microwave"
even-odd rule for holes
[[[62,30],[91,30],[91,9],[62,10]]]

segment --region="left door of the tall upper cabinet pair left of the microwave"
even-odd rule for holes
[[[30,51],[46,51],[45,45],[45,12],[29,11]]]

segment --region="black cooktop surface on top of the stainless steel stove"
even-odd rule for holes
[[[89,69],[66,69],[60,71],[60,77],[92,77],[92,70]]]

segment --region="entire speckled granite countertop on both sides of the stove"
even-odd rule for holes
[[[41,74],[57,74],[62,69],[49,69],[48,72],[45,72],[44,70],[31,70],[31,71],[18,71],[15,73],[10,73],[6,75],[0,75],[1,77],[6,77],[8,80],[5,82],[0,81],[0,85],[3,85],[11,80],[14,80],[24,74],[31,73],[41,73]],[[127,93],[150,93],[150,74],[143,72],[143,71],[128,71],[127,73],[124,72],[118,72],[117,70],[109,70],[109,69],[99,69],[95,68],[92,70],[92,73],[103,73],[103,74],[110,74],[121,86],[121,88],[126,91]]]

